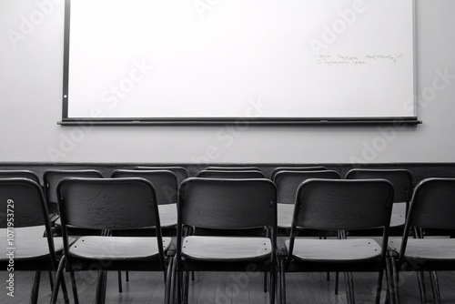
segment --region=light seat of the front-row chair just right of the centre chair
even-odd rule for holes
[[[289,240],[285,242],[289,248]],[[293,257],[302,261],[349,262],[380,257],[381,248],[372,238],[308,239],[296,238]]]

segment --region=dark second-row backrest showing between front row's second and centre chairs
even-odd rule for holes
[[[124,170],[117,169],[111,177],[142,177],[155,188],[158,205],[177,204],[177,177],[169,170]]]

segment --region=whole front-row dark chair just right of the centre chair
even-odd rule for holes
[[[344,272],[348,301],[354,303],[351,272],[378,272],[379,303],[386,267],[393,186],[385,179],[308,179],[298,187],[290,239],[279,258],[281,303],[286,303],[287,272]],[[297,238],[300,229],[382,228],[382,243],[372,238]]]

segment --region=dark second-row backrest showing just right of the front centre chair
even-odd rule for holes
[[[298,186],[309,178],[339,179],[339,173],[332,170],[324,171],[278,171],[273,179],[277,185],[277,202],[294,204]]]

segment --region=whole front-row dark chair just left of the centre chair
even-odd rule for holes
[[[63,271],[70,272],[75,302],[78,302],[74,271],[98,271],[96,303],[104,303],[106,271],[161,271],[167,279],[165,254],[171,238],[161,236],[157,199],[152,184],[144,178],[66,177],[57,185],[65,255]],[[131,202],[134,201],[134,204]],[[157,237],[83,236],[71,245],[68,226],[95,230],[132,231],[156,228]],[[52,302],[56,303],[58,289]],[[168,293],[165,293],[165,302]]]

